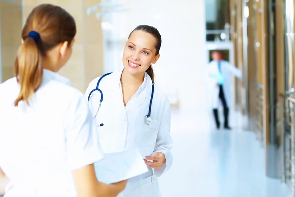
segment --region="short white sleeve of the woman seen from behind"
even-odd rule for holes
[[[93,117],[83,95],[72,100],[64,124],[67,160],[72,170],[103,158]]]

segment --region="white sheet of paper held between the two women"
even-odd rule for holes
[[[133,178],[148,172],[138,149],[105,154],[105,157],[94,163],[95,174],[100,182],[110,184]]]

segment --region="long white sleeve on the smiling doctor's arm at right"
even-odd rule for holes
[[[171,149],[173,147],[173,141],[170,136],[170,122],[171,122],[171,110],[170,103],[167,97],[164,101],[164,108],[161,117],[160,128],[157,136],[157,141],[155,145],[155,150],[153,152],[164,153],[166,158],[166,163],[160,169],[154,169],[155,177],[160,177],[162,174],[167,172],[172,166],[172,153]]]

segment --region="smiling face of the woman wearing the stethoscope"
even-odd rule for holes
[[[127,41],[123,53],[124,71],[132,75],[143,75],[160,57],[156,54],[156,38],[150,33],[135,30]]]

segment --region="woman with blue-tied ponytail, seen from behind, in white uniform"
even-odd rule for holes
[[[0,84],[0,194],[5,197],[115,197],[127,181],[103,184],[103,158],[84,96],[57,72],[69,60],[76,24],[42,4],[29,14],[15,77]]]

